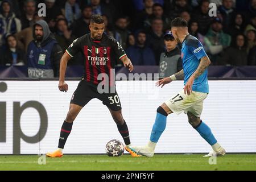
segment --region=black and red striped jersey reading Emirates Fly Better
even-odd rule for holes
[[[114,69],[115,59],[122,59],[126,56],[122,46],[117,40],[103,34],[101,40],[93,40],[90,34],[85,34],[74,40],[67,48],[66,52],[73,57],[77,52],[82,52],[84,55],[85,73],[84,78],[87,82],[98,85],[101,80],[98,80],[98,75],[106,73],[110,80],[114,80],[113,74],[110,74],[110,69]],[[103,79],[105,80],[105,79]],[[113,85],[110,81],[110,85]]]

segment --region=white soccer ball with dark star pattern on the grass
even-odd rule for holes
[[[108,156],[122,156],[125,146],[119,140],[113,139],[106,144],[106,154]]]

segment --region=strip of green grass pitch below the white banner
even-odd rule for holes
[[[210,165],[209,158],[201,154],[155,155],[153,158],[132,158],[130,155],[64,155],[63,158],[46,158],[38,164],[36,155],[0,155],[2,170],[86,170],[86,171],[170,171],[170,170],[256,170],[256,154],[226,154],[217,157]]]

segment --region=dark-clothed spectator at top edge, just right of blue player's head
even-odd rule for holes
[[[213,17],[209,16],[209,3],[209,0],[201,1],[200,6],[195,9],[192,14],[192,19],[197,20],[199,26],[199,33],[202,35],[207,34],[210,23],[213,20]]]

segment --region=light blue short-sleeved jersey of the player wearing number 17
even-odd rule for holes
[[[187,35],[182,43],[181,58],[184,70],[184,85],[189,77],[196,71],[202,57],[207,56],[201,42],[192,35]],[[193,83],[192,90],[196,92],[209,93],[208,69],[197,77]]]

